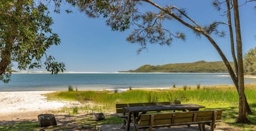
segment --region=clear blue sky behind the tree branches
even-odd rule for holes
[[[159,2],[159,1],[158,1]],[[165,3],[163,3],[165,2]],[[239,1],[241,2],[241,1]],[[161,5],[176,5],[186,8],[188,15],[200,25],[207,25],[212,21],[224,21],[222,12],[218,12],[211,5],[211,1],[182,0],[162,1]],[[256,26],[253,8],[255,3],[240,7],[242,40],[244,53],[255,47]],[[143,11],[158,11],[157,8],[143,4]],[[54,20],[53,32],[58,33],[61,44],[52,46],[47,54],[53,55],[59,62],[66,64],[68,72],[117,72],[136,69],[139,66],[163,65],[170,63],[189,63],[198,60],[207,62],[221,61],[217,51],[204,37],[199,39],[191,30],[176,21],[167,21],[166,27],[186,33],[186,41],[173,40],[170,46],[148,45],[148,50],[137,54],[138,44],[129,43],[126,37],[132,29],[124,32],[111,31],[105,19],[88,18],[84,13],[74,10],[73,13],[51,13]],[[227,27],[221,29],[227,31]],[[228,33],[228,32],[227,32]],[[227,58],[232,61],[229,37],[217,38],[213,36]]]

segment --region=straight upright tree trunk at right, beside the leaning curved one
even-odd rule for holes
[[[238,67],[238,88],[239,88],[239,116],[237,123],[250,123],[246,115],[245,109],[245,94],[244,94],[244,66],[242,54],[242,37],[239,22],[238,1],[233,1],[234,5],[234,21],[236,31],[236,50],[237,50],[237,67]]]

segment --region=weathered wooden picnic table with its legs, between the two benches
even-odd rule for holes
[[[145,114],[148,111],[164,111],[164,110],[165,111],[166,110],[198,111],[200,108],[205,108],[205,106],[201,106],[198,104],[170,104],[170,105],[159,105],[159,106],[124,107],[123,109],[129,112],[126,130],[130,130],[131,116],[133,116],[132,123],[135,125],[140,120],[140,115]]]

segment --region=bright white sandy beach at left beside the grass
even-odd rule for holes
[[[0,92],[0,121],[37,119],[63,107],[79,106],[76,101],[47,101],[42,94],[54,91]]]

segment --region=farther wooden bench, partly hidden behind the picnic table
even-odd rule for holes
[[[147,103],[120,103],[116,104],[116,115],[124,120],[124,125],[128,118],[128,111],[124,110],[124,107],[142,107],[142,106],[156,106],[156,105],[169,105],[180,104],[180,101],[171,102],[147,102]]]

